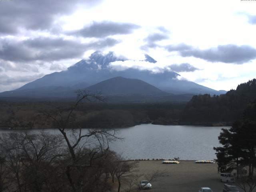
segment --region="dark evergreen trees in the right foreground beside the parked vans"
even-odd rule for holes
[[[222,129],[218,139],[222,144],[214,147],[218,166],[223,172],[236,170],[238,185],[245,192],[252,192],[256,188],[256,100],[247,105],[243,117],[231,128]],[[248,175],[244,172],[246,167]]]

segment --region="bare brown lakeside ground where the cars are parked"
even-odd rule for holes
[[[168,172],[151,183],[152,189],[143,192],[198,192],[201,187],[210,187],[214,192],[222,192],[225,184],[220,182],[216,163],[196,164],[194,161],[180,160],[180,164],[162,164],[160,160],[150,160],[140,161],[138,169],[144,174],[154,170]]]

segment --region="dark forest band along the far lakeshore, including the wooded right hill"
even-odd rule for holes
[[[74,113],[82,128],[122,128],[137,124],[230,126],[256,99],[256,79],[220,96],[195,95],[189,102],[83,102]],[[75,101],[74,101],[75,102]],[[52,128],[46,113],[67,112],[74,102],[0,100],[0,128]]]

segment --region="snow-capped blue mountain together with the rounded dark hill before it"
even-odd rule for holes
[[[128,59],[117,57],[114,52],[102,54],[96,51],[87,60],[77,62],[67,70],[45,75],[16,90],[2,92],[0,97],[59,100],[75,98],[76,90],[88,89],[102,92],[112,102],[159,102],[189,101],[195,94],[225,93],[187,80],[178,80],[180,75],[171,70],[159,73],[137,68],[116,70],[111,64],[125,60]],[[157,64],[147,54],[144,61]]]

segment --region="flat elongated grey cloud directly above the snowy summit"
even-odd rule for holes
[[[76,36],[104,38],[110,35],[130,34],[140,26],[132,23],[118,23],[112,21],[93,22],[90,26],[69,32]]]

